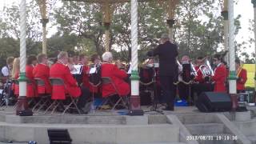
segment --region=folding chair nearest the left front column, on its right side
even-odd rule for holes
[[[38,113],[39,110],[43,108],[43,106],[47,106],[47,104],[50,104],[50,94],[46,94],[46,84],[41,78],[34,78],[34,80],[37,84],[38,95],[40,99],[33,107],[32,111],[34,111],[38,107],[38,110],[36,111]]]

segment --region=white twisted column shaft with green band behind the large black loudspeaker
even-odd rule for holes
[[[230,94],[237,93],[236,85],[236,72],[235,72],[235,51],[234,51],[234,1],[228,1],[228,11],[229,11],[229,47],[230,47]]]

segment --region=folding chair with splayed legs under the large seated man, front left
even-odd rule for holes
[[[54,107],[53,107],[53,110],[51,111],[51,114],[54,114],[54,111],[58,108],[58,106],[64,106],[63,101],[66,99],[66,86],[63,79],[50,78],[50,83],[52,85],[51,99],[54,99],[54,102],[46,109],[45,114],[53,106]],[[76,104],[78,98],[73,98],[72,96],[70,96],[70,100],[71,100],[70,104],[68,104],[66,107],[64,106],[62,115],[65,114],[66,110],[69,110],[69,109],[78,110],[78,114],[81,114]],[[72,105],[74,105],[74,107],[71,107]]]

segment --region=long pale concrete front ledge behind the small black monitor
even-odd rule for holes
[[[0,122],[0,140],[49,143],[47,129],[67,129],[75,144],[179,142],[179,127],[158,125],[10,124]]]

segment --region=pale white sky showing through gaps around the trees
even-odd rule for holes
[[[20,2],[20,0],[0,0],[0,10],[2,10],[3,6],[10,6],[13,2]],[[238,0],[238,3],[234,5],[234,17],[236,17],[238,14],[241,14],[242,16],[240,18],[242,29],[239,30],[238,36],[235,39],[238,42],[242,42],[248,41],[250,38],[254,38],[254,33],[250,32],[249,30],[249,20],[254,18],[254,8],[251,0]],[[48,31],[50,30],[48,29]],[[249,53],[254,53],[254,44],[246,47],[246,51]]]

